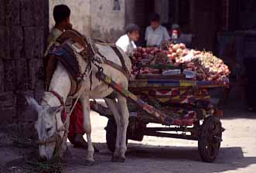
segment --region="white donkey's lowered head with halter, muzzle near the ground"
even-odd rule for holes
[[[32,97],[26,97],[26,100],[38,113],[35,128],[39,137],[39,156],[43,160],[49,160],[57,147],[58,137],[63,136],[63,133],[58,134],[58,121],[61,121],[60,113],[63,107],[41,106]]]

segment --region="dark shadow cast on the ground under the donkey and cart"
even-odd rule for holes
[[[105,169],[103,172],[111,170],[113,172],[114,168],[121,170],[121,168],[128,167],[133,169],[132,172],[141,172],[142,169],[140,168],[145,168],[145,172],[147,169],[151,170],[147,172],[167,172],[163,171],[165,169],[169,172],[172,172],[170,170],[176,170],[173,172],[223,172],[247,168],[256,163],[256,157],[244,157],[243,151],[239,147],[220,148],[217,160],[213,163],[206,163],[201,161],[197,148],[128,144],[127,161],[125,164],[116,164],[111,163],[111,152],[108,151],[106,144],[97,144],[97,147],[100,148],[101,152],[95,154],[96,165],[91,168],[91,172],[101,171],[102,168]],[[68,167],[82,170],[86,151],[73,148],[70,148],[70,151],[72,155],[65,159]],[[114,172],[129,171],[123,169],[123,171]]]

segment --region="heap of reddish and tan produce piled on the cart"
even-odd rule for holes
[[[217,80],[228,83],[230,70],[222,59],[213,56],[213,53],[186,49],[181,44],[169,44],[165,49],[142,48],[136,49],[132,62],[131,74],[154,74],[161,70],[150,68],[153,64],[179,66],[183,63],[186,70],[196,73],[196,80]]]

